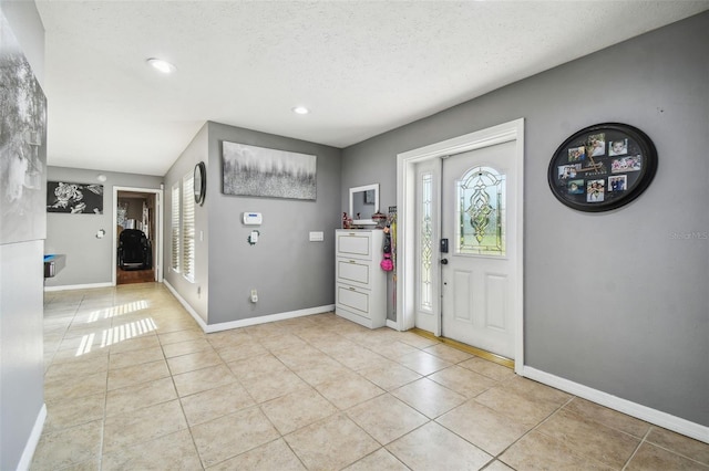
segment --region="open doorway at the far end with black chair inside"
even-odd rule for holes
[[[114,187],[113,284],[162,281],[162,190]]]

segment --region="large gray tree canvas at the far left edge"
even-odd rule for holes
[[[47,239],[47,98],[0,12],[0,243]]]

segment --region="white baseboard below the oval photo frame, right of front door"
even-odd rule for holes
[[[641,406],[639,404],[629,401],[627,399],[613,396],[608,393],[604,393],[588,386],[574,383],[562,377],[541,371],[528,366],[524,366],[523,376],[535,381],[543,383],[547,386],[552,386],[556,389],[561,389],[574,396],[578,396],[584,399],[588,399],[593,402],[617,410],[628,416],[635,417],[646,422],[656,425],[658,427],[666,428],[668,430],[676,431],[687,437],[691,437],[696,440],[709,443],[709,427],[701,426],[699,423],[690,422],[689,420],[680,417],[672,416],[667,412],[662,412],[650,407]]]

